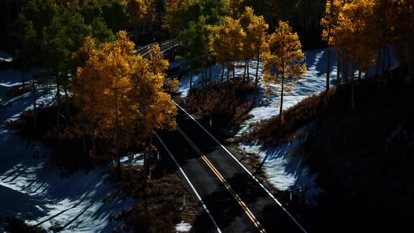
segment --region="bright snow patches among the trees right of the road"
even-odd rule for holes
[[[326,72],[328,51],[327,49],[317,49],[314,51],[305,51],[307,64],[307,72],[300,79],[298,84],[294,84],[294,90],[291,93],[285,93],[283,95],[283,109],[288,109],[301,100],[314,95],[319,94],[326,88]],[[396,64],[396,60],[392,58],[392,65]],[[257,62],[250,62],[250,76],[255,76]],[[258,76],[262,76],[262,62],[259,63]],[[220,79],[222,67],[213,67],[213,80]],[[337,53],[332,51],[330,54],[330,85],[336,85],[336,73],[338,71]],[[227,70],[225,70],[225,74]],[[375,67],[370,69],[369,74],[375,73]],[[236,69],[236,76],[243,75],[243,69]],[[357,76],[357,73],[356,73]],[[201,80],[201,74],[197,74],[193,78],[193,86],[199,87]],[[259,79],[259,86],[262,91],[265,89],[265,84],[262,84]],[[189,93],[189,77],[185,77],[180,80],[179,92],[181,95],[187,96]],[[248,96],[250,100],[253,100],[253,95]],[[253,107],[250,114],[253,114],[253,118],[248,119],[246,124],[239,128],[236,135],[241,135],[243,131],[248,131],[250,127],[248,123],[260,121],[262,119],[270,119],[273,116],[279,114],[279,108],[275,105],[279,105],[280,93],[274,93],[272,95],[260,94],[258,100],[265,99],[267,102],[262,102]],[[302,133],[308,133],[311,126],[306,126],[300,131]],[[310,204],[316,204],[315,198],[323,190],[316,186],[315,180],[317,174],[309,174],[307,167],[303,164],[302,155],[298,154],[296,157],[291,157],[291,152],[295,151],[300,145],[300,140],[295,138],[291,143],[283,143],[277,147],[262,147],[260,142],[242,142],[239,147],[249,153],[258,154],[260,159],[265,159],[263,168],[269,177],[269,181],[272,184],[282,190],[292,190],[297,192],[301,189],[305,192],[305,196],[309,200]]]

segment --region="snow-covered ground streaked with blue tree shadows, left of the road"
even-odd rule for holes
[[[32,108],[32,93],[15,98],[4,96],[10,88],[21,85],[21,77],[19,70],[0,70],[0,103],[11,103],[11,107],[0,108],[0,124],[18,119],[23,110]],[[37,91],[38,103],[47,105],[53,102],[53,95],[45,93],[44,90]],[[18,217],[46,229],[59,225],[63,227],[62,232],[112,232],[119,222],[109,222],[109,217],[123,208],[131,208],[135,202],[131,198],[103,201],[116,189],[113,182],[104,182],[112,164],[97,166],[89,173],[79,171],[61,179],[59,168],[44,168],[50,152],[48,147],[22,138],[4,125],[0,125],[0,150],[2,220],[7,216]],[[142,161],[128,157],[122,161],[124,164],[142,164]]]

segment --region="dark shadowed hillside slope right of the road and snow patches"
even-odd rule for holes
[[[383,81],[356,86],[354,111],[321,113],[302,145],[326,191],[307,219],[316,231],[414,230],[414,88],[398,72]]]

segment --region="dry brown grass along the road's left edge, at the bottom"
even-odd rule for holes
[[[116,174],[118,171],[114,168],[112,170],[114,178]],[[118,187],[120,192],[114,193],[114,197],[106,197],[106,200],[120,198],[120,193],[128,190],[132,191],[132,196],[138,199],[133,208],[110,218],[110,220],[126,220],[122,227],[123,230],[173,232],[173,227],[181,220],[191,224],[196,218],[196,204],[175,173],[164,174],[157,180],[146,180],[142,170],[138,167],[121,166],[121,179]],[[184,195],[186,208],[181,211]]]

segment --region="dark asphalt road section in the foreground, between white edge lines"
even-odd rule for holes
[[[181,109],[178,111],[177,122],[182,132],[161,132],[159,136],[222,232],[260,232],[263,229],[265,232],[303,232],[218,142]],[[167,154],[162,146],[158,148],[161,154]],[[194,200],[199,201],[192,189],[188,189]],[[194,232],[215,232],[206,211],[198,216],[194,225]]]

